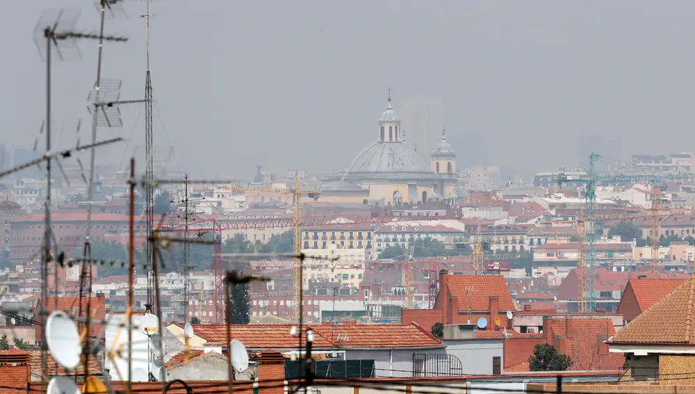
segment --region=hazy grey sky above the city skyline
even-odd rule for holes
[[[38,133],[44,65],[32,31],[42,10],[59,7],[83,8],[79,26],[97,28],[88,0],[0,8],[8,145],[31,145]],[[107,44],[103,76],[123,80],[122,98],[139,98],[145,2],[124,8],[128,17],[107,20],[106,30],[131,40]],[[692,149],[693,1],[157,0],[151,8],[155,145],[173,145],[171,166],[197,177],[252,177],[256,163],[341,170],[377,138],[389,85],[400,113],[409,97],[443,99],[464,163],[552,170],[577,163],[587,146],[580,138],[601,135],[617,136],[626,156]],[[88,120],[96,44],[81,49],[82,60],[54,67],[56,139],[61,122]],[[123,109],[123,129],[99,131],[129,138],[101,160],[125,163],[144,145],[141,107]],[[74,143],[74,131],[60,140]]]

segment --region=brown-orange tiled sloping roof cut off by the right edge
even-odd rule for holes
[[[695,280],[688,279],[618,331],[611,343],[695,343]],[[692,312],[691,312],[692,313]]]

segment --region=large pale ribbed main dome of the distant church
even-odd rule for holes
[[[415,149],[402,142],[378,142],[354,160],[349,173],[356,172],[425,172],[430,165]]]

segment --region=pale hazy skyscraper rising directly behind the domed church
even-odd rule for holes
[[[403,129],[408,145],[429,160],[430,154],[439,145],[444,126],[441,99],[415,98],[405,104]]]

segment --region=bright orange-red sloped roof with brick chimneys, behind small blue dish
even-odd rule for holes
[[[500,311],[514,311],[514,302],[509,295],[505,277],[500,275],[449,275],[449,291],[457,297],[459,311],[489,311],[490,297],[498,296]]]

